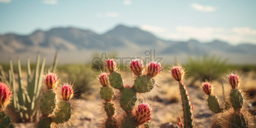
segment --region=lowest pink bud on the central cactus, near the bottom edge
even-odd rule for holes
[[[152,108],[148,103],[141,103],[136,110],[136,121],[138,125],[142,125],[151,119]]]

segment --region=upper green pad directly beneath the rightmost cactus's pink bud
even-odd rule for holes
[[[239,89],[235,88],[230,91],[230,101],[234,109],[242,108],[243,99],[243,95]]]

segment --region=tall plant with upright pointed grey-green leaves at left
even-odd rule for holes
[[[28,121],[35,121],[38,113],[38,96],[40,93],[41,88],[41,81],[44,72],[44,64],[45,64],[45,57],[43,57],[40,67],[40,55],[37,54],[36,59],[36,68],[34,72],[34,77],[31,77],[31,69],[30,69],[30,61],[29,57],[27,58],[27,86],[23,83],[22,77],[22,69],[20,59],[17,60],[17,69],[18,69],[18,88],[16,87],[16,80],[14,75],[14,69],[12,61],[9,61],[10,69],[8,71],[9,75],[5,75],[1,65],[0,65],[0,78],[2,81],[9,82],[13,91],[13,100],[12,100],[12,109],[16,114],[20,117],[19,121],[28,122]],[[54,59],[54,65],[52,66],[49,71],[54,71],[57,65],[57,53]],[[27,88],[25,88],[27,87]],[[17,89],[18,90],[17,90]]]

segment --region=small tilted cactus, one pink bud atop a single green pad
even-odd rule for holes
[[[208,96],[207,102],[208,102],[208,107],[210,110],[212,110],[214,113],[220,113],[222,112],[222,109],[220,108],[219,105],[219,100],[217,99],[216,95],[213,94],[213,86],[210,84],[210,82],[203,82],[202,83],[202,88],[204,93]]]

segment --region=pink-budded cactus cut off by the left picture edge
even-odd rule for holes
[[[5,115],[5,107],[11,103],[12,92],[6,84],[0,82],[0,128],[14,128],[11,118]]]

